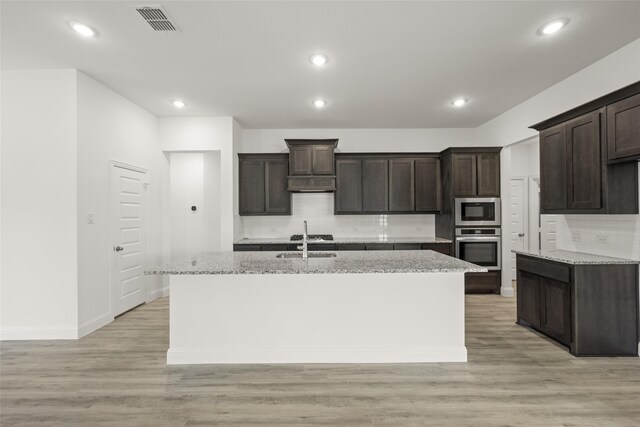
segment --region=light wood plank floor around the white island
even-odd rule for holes
[[[78,341],[4,342],[2,426],[639,426],[640,360],[574,358],[467,296],[468,363],[169,367],[168,299]]]

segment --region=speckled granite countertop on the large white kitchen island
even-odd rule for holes
[[[343,251],[335,258],[276,258],[275,252],[203,252],[146,274],[466,273],[484,267],[434,251]]]

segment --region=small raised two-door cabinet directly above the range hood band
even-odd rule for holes
[[[337,139],[285,139],[291,175],[335,175]]]

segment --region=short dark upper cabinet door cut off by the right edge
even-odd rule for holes
[[[640,94],[607,106],[609,160],[640,159]]]

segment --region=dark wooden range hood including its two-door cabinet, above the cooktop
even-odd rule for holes
[[[337,139],[285,139],[289,147],[287,190],[336,191],[334,151]]]

